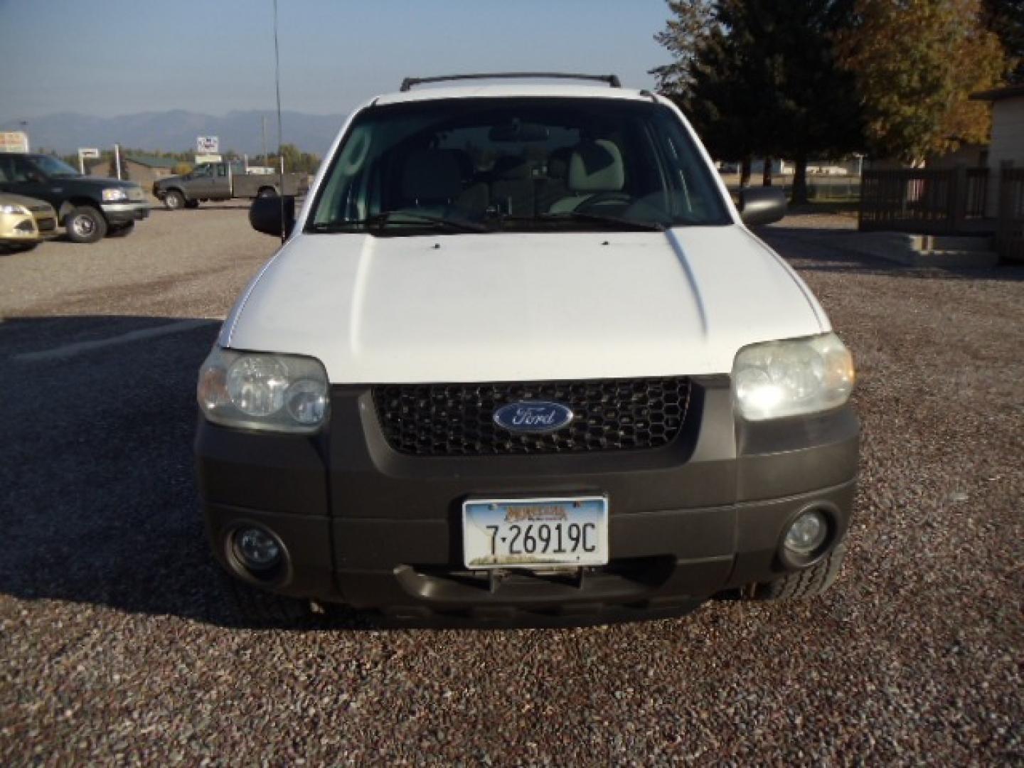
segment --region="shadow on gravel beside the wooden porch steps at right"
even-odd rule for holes
[[[851,229],[772,225],[756,230],[758,237],[777,250],[800,271],[877,274],[910,280],[1024,281],[1024,264],[1002,263],[994,267],[907,266],[853,251],[839,238],[856,234]],[[808,261],[804,261],[804,260]]]

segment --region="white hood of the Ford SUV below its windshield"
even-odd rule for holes
[[[299,234],[221,330],[334,383],[728,373],[745,344],[828,330],[738,225],[665,232]]]

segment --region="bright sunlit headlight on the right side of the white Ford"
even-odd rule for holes
[[[749,421],[842,406],[853,389],[853,357],[836,334],[751,344],[732,364],[732,392]]]

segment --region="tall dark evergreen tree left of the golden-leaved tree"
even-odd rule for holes
[[[808,158],[860,143],[854,80],[831,45],[847,22],[848,0],[715,0],[700,32],[703,4],[670,2],[670,9],[677,18],[662,42],[676,46],[670,50],[684,73],[666,69],[659,83],[677,89],[674,98],[717,157],[791,158],[793,200],[806,202]]]

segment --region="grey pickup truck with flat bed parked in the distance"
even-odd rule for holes
[[[284,181],[284,190],[282,190]],[[269,198],[296,195],[304,190],[306,174],[234,173],[230,163],[202,163],[182,176],[168,176],[153,182],[153,194],[170,211],[198,208],[208,200],[231,198]]]

